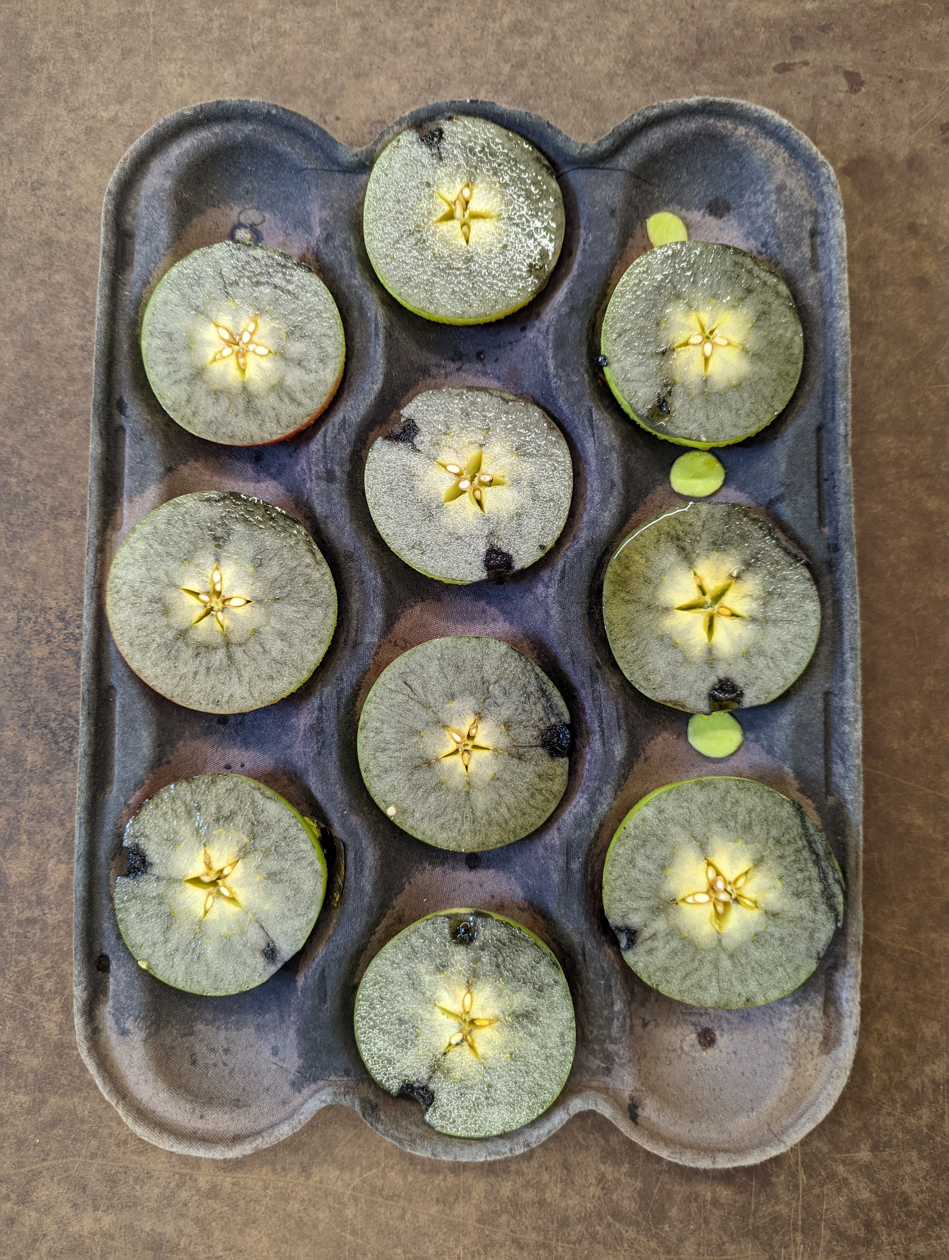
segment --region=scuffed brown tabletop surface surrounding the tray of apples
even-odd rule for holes
[[[72,1024],[72,850],[102,195],[195,101],[255,96],[362,145],[484,97],[592,140],[653,101],[778,110],[836,168],[849,233],[863,600],[863,1027],[831,1116],[696,1172],[585,1114],[441,1166],[331,1108],[233,1163],[149,1147]],[[949,1256],[946,412],[949,5],[804,0],[0,3],[0,1251],[68,1257],[904,1260]]]

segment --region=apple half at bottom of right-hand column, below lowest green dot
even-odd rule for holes
[[[689,1005],[757,1007],[817,966],[843,922],[843,876],[797,801],[751,779],[691,779],[623,819],[602,903],[647,984]]]

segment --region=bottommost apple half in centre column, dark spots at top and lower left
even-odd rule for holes
[[[373,1080],[439,1133],[490,1138],[537,1119],[573,1062],[570,987],[543,941],[483,910],[442,910],[384,945],[359,984]]]

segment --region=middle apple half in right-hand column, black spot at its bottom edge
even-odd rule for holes
[[[635,529],[606,567],[602,611],[630,683],[688,713],[768,704],[820,633],[804,557],[737,503],[689,503]]]

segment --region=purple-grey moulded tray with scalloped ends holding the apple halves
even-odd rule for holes
[[[452,111],[490,117],[537,144],[567,208],[548,287],[481,329],[410,315],[382,291],[362,244],[362,194],[379,147],[401,127]],[[721,771],[759,777],[817,814],[848,879],[847,921],[814,976],[757,1011],[702,1012],[647,989],[621,961],[599,903],[605,847],[623,813],[652,788],[710,767],[684,741],[684,716],[625,683],[599,614],[610,547],[674,498],[676,451],[625,420],[595,363],[611,285],[645,248],[643,220],[659,208],[678,210],[694,237],[776,262],[805,334],[794,399],[761,435],[727,450],[717,499],[757,505],[803,548],[823,633],[802,679],[742,716],[746,743]],[[315,266],[348,341],[328,413],[300,437],[260,450],[216,447],[178,428],[151,396],[137,353],[158,278],[238,223]],[[410,394],[436,383],[528,394],[571,446],[567,528],[543,561],[500,587],[446,588],[421,577],[387,551],[365,509],[371,441]],[[416,111],[353,151],[260,102],[185,110],[130,150],[106,198],[92,418],[76,1022],[96,1081],[136,1133],[171,1150],[237,1155],[344,1102],[407,1150],[492,1159],[595,1109],[667,1158],[722,1167],[784,1150],[822,1119],[846,1081],[858,1022],[860,680],[843,219],[833,175],[800,132],[765,110],[699,98],[641,111],[581,145],[527,113],[451,102]],[[205,488],[258,494],[297,515],[340,595],[336,636],[314,678],[277,706],[231,718],[179,709],[150,692],[118,658],[102,607],[127,530],[158,503]],[[570,785],[552,819],[480,862],[391,828],[362,786],[354,752],[362,699],[384,665],[415,643],[457,631],[528,651],[561,688],[576,733]],[[200,999],[135,965],[117,935],[111,878],[122,825],[146,795],[226,767],[324,819],[345,848],[347,878],[338,907],[266,985]],[[376,950],[426,910],[461,903],[505,911],[538,931],[577,1008],[577,1056],[561,1099],[532,1125],[479,1143],[434,1134],[416,1104],[372,1085],[352,1033],[355,985]]]

